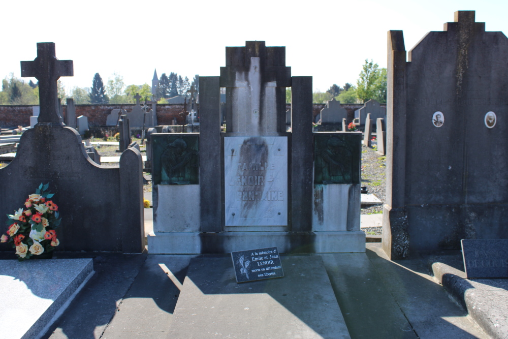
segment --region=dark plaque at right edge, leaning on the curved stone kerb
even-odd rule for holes
[[[508,239],[463,239],[467,278],[508,278]]]

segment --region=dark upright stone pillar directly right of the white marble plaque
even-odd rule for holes
[[[312,77],[292,77],[291,231],[312,230]]]

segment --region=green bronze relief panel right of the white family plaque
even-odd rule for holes
[[[360,133],[314,133],[314,183],[360,183]]]

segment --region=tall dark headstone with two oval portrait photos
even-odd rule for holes
[[[402,31],[388,32],[383,248],[391,259],[508,238],[508,143],[499,142],[508,122],[485,122],[508,107],[508,39],[486,32],[474,11],[454,19],[407,59]]]

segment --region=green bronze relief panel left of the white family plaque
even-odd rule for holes
[[[199,134],[152,134],[153,184],[199,183]]]

